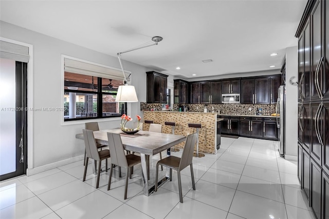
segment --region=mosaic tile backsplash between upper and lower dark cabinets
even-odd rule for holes
[[[141,111],[156,110],[161,111],[165,108],[165,104],[161,103],[140,103]],[[189,109],[188,112],[204,112],[204,108],[207,107],[207,112],[214,111],[219,114],[229,115],[255,115],[257,108],[263,109],[264,112],[268,111],[268,114],[276,112],[276,104],[240,104],[240,103],[224,103],[224,104],[173,104],[173,111],[179,111],[179,107],[184,111],[184,106]],[[250,109],[250,110],[249,110]],[[219,111],[219,112],[218,112]]]

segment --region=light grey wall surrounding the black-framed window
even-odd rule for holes
[[[61,55],[120,68],[117,57],[96,52],[81,46],[67,43],[50,36],[27,30],[6,22],[0,23],[0,36],[33,45],[33,106],[62,107]],[[132,71],[132,85],[135,86],[138,100],[146,102],[145,67],[124,61],[126,70]],[[128,112],[134,117],[141,115],[140,103],[131,103]],[[69,159],[84,153],[82,140],[75,138],[81,133],[84,123],[61,125],[61,112],[33,112],[33,142],[28,147],[33,151],[33,167]],[[93,120],[88,120],[93,121]],[[100,129],[119,126],[119,120],[102,119]],[[29,159],[29,157],[27,158]]]

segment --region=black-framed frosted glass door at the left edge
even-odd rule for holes
[[[26,172],[27,63],[0,59],[0,180]]]

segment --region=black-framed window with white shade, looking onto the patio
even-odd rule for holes
[[[126,103],[115,102],[123,83],[120,71],[104,74],[104,67],[70,59],[64,62],[64,121],[118,117],[126,112]]]

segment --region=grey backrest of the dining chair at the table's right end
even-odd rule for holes
[[[179,170],[182,170],[192,163],[194,145],[196,142],[196,133],[188,135],[185,141],[185,147],[181,154]]]

